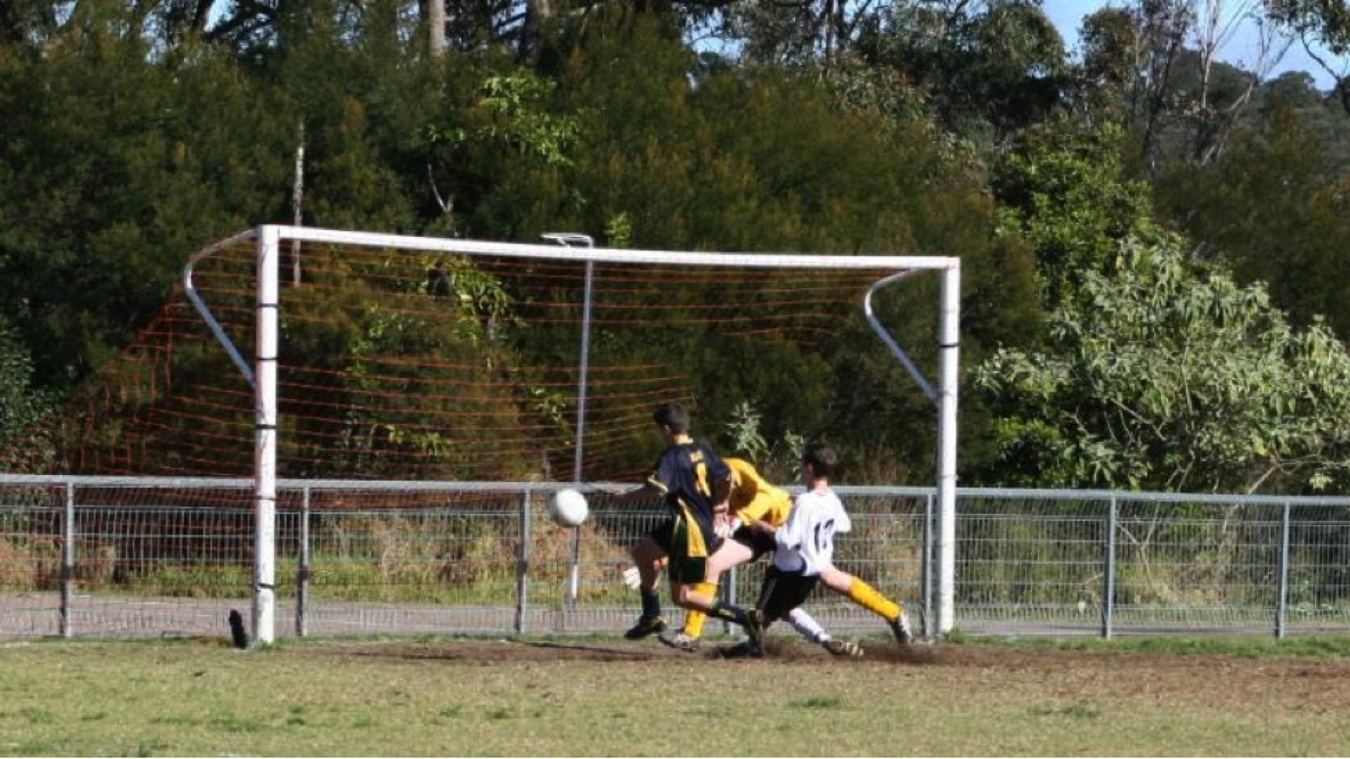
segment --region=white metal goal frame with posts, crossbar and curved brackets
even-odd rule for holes
[[[204,258],[238,248],[256,246],[256,300],[255,355],[250,365],[230,340],[225,331],[193,286],[194,266]],[[320,243],[352,246],[383,251],[406,251],[448,255],[490,255],[494,258],[521,258],[567,261],[578,263],[666,265],[690,267],[752,267],[798,270],[890,270],[890,274],[867,290],[863,303],[865,317],[886,346],[905,365],[923,393],[937,407],[937,533],[933,536],[936,570],[936,624],[937,633],[950,632],[954,605],[956,574],[956,462],[957,462],[957,386],[959,386],[959,323],[961,262],[954,257],[896,257],[896,255],[795,255],[748,253],[690,253],[660,250],[618,250],[603,247],[567,247],[556,244],[518,244],[441,238],[417,238],[310,227],[262,226],[215,243],[192,255],[184,267],[188,297],[231,359],[252,385],[254,411],[254,578],[252,578],[252,640],[271,643],[275,637],[275,501],[277,501],[277,362],[279,346],[281,255],[282,243]],[[940,288],[938,378],[936,388],[909,359],[900,346],[872,312],[872,296],[903,277],[933,270],[942,277]],[[579,424],[583,420],[578,420]]]

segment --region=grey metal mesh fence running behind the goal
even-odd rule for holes
[[[597,494],[562,529],[544,509],[560,486],[278,482],[278,635],[622,629],[628,547],[663,512]],[[248,608],[251,488],[0,475],[0,636],[224,633]],[[838,492],[855,523],[840,567],[929,609],[934,490]],[[956,529],[961,629],[1350,629],[1350,498],[960,489]],[[726,593],[753,598],[761,573],[738,567]],[[884,632],[837,596],[809,605],[841,632]]]

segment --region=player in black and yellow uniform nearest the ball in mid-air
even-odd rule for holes
[[[753,614],[724,604],[717,598],[717,585],[705,582],[707,559],[717,551],[722,542],[720,533],[725,531],[725,527],[722,531],[718,527],[728,520],[732,473],[713,448],[694,440],[688,412],[679,404],[657,408],[652,420],[667,447],[657,456],[647,482],[613,502],[622,505],[660,496],[670,517],[633,547],[633,562],[641,578],[643,614],[624,636],[636,640],[666,629],[656,579],[662,559],[668,558],[667,573],[675,604],[733,621],[757,642],[759,628]]]

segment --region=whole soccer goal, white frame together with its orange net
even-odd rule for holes
[[[251,427],[254,444],[174,455],[182,471],[254,477],[256,642],[274,637],[278,477],[633,479],[655,404],[694,402],[706,424],[753,397],[782,432],[841,384],[886,392],[894,371],[842,359],[860,347],[899,361],[936,407],[932,629],[950,629],[960,259],[545,238],[263,226],[190,257],[186,294],[246,380],[193,398],[193,434],[238,442]],[[937,315],[937,382],[883,324],[879,296],[923,271],[941,277],[923,315]]]

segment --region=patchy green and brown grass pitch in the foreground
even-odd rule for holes
[[[0,644],[5,755],[1347,755],[1350,639]]]

